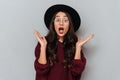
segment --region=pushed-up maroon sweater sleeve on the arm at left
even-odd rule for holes
[[[45,75],[49,71],[49,64],[48,63],[40,64],[38,62],[39,56],[40,56],[40,44],[38,43],[36,48],[35,48],[35,58],[36,59],[35,59],[35,62],[34,62],[34,68],[36,70],[37,75]]]

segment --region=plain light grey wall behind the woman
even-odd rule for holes
[[[44,13],[58,3],[80,14],[79,37],[95,34],[84,45],[81,80],[120,80],[120,0],[0,0],[0,80],[34,80],[33,32],[46,35]]]

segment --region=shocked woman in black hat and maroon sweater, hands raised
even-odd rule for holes
[[[35,30],[38,40],[35,48],[36,80],[80,80],[86,65],[82,46],[93,35],[77,38],[80,16],[67,5],[53,5],[45,13],[49,29],[44,37]]]

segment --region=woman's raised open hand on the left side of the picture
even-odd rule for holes
[[[47,40],[44,36],[41,36],[37,30],[34,30],[34,35],[37,38],[38,42],[40,43],[41,47],[46,48]]]

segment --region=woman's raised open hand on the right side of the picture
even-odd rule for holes
[[[83,44],[85,44],[87,41],[93,38],[93,34],[90,34],[88,37],[80,39],[78,38],[78,41],[76,43],[76,47],[82,47]]]

